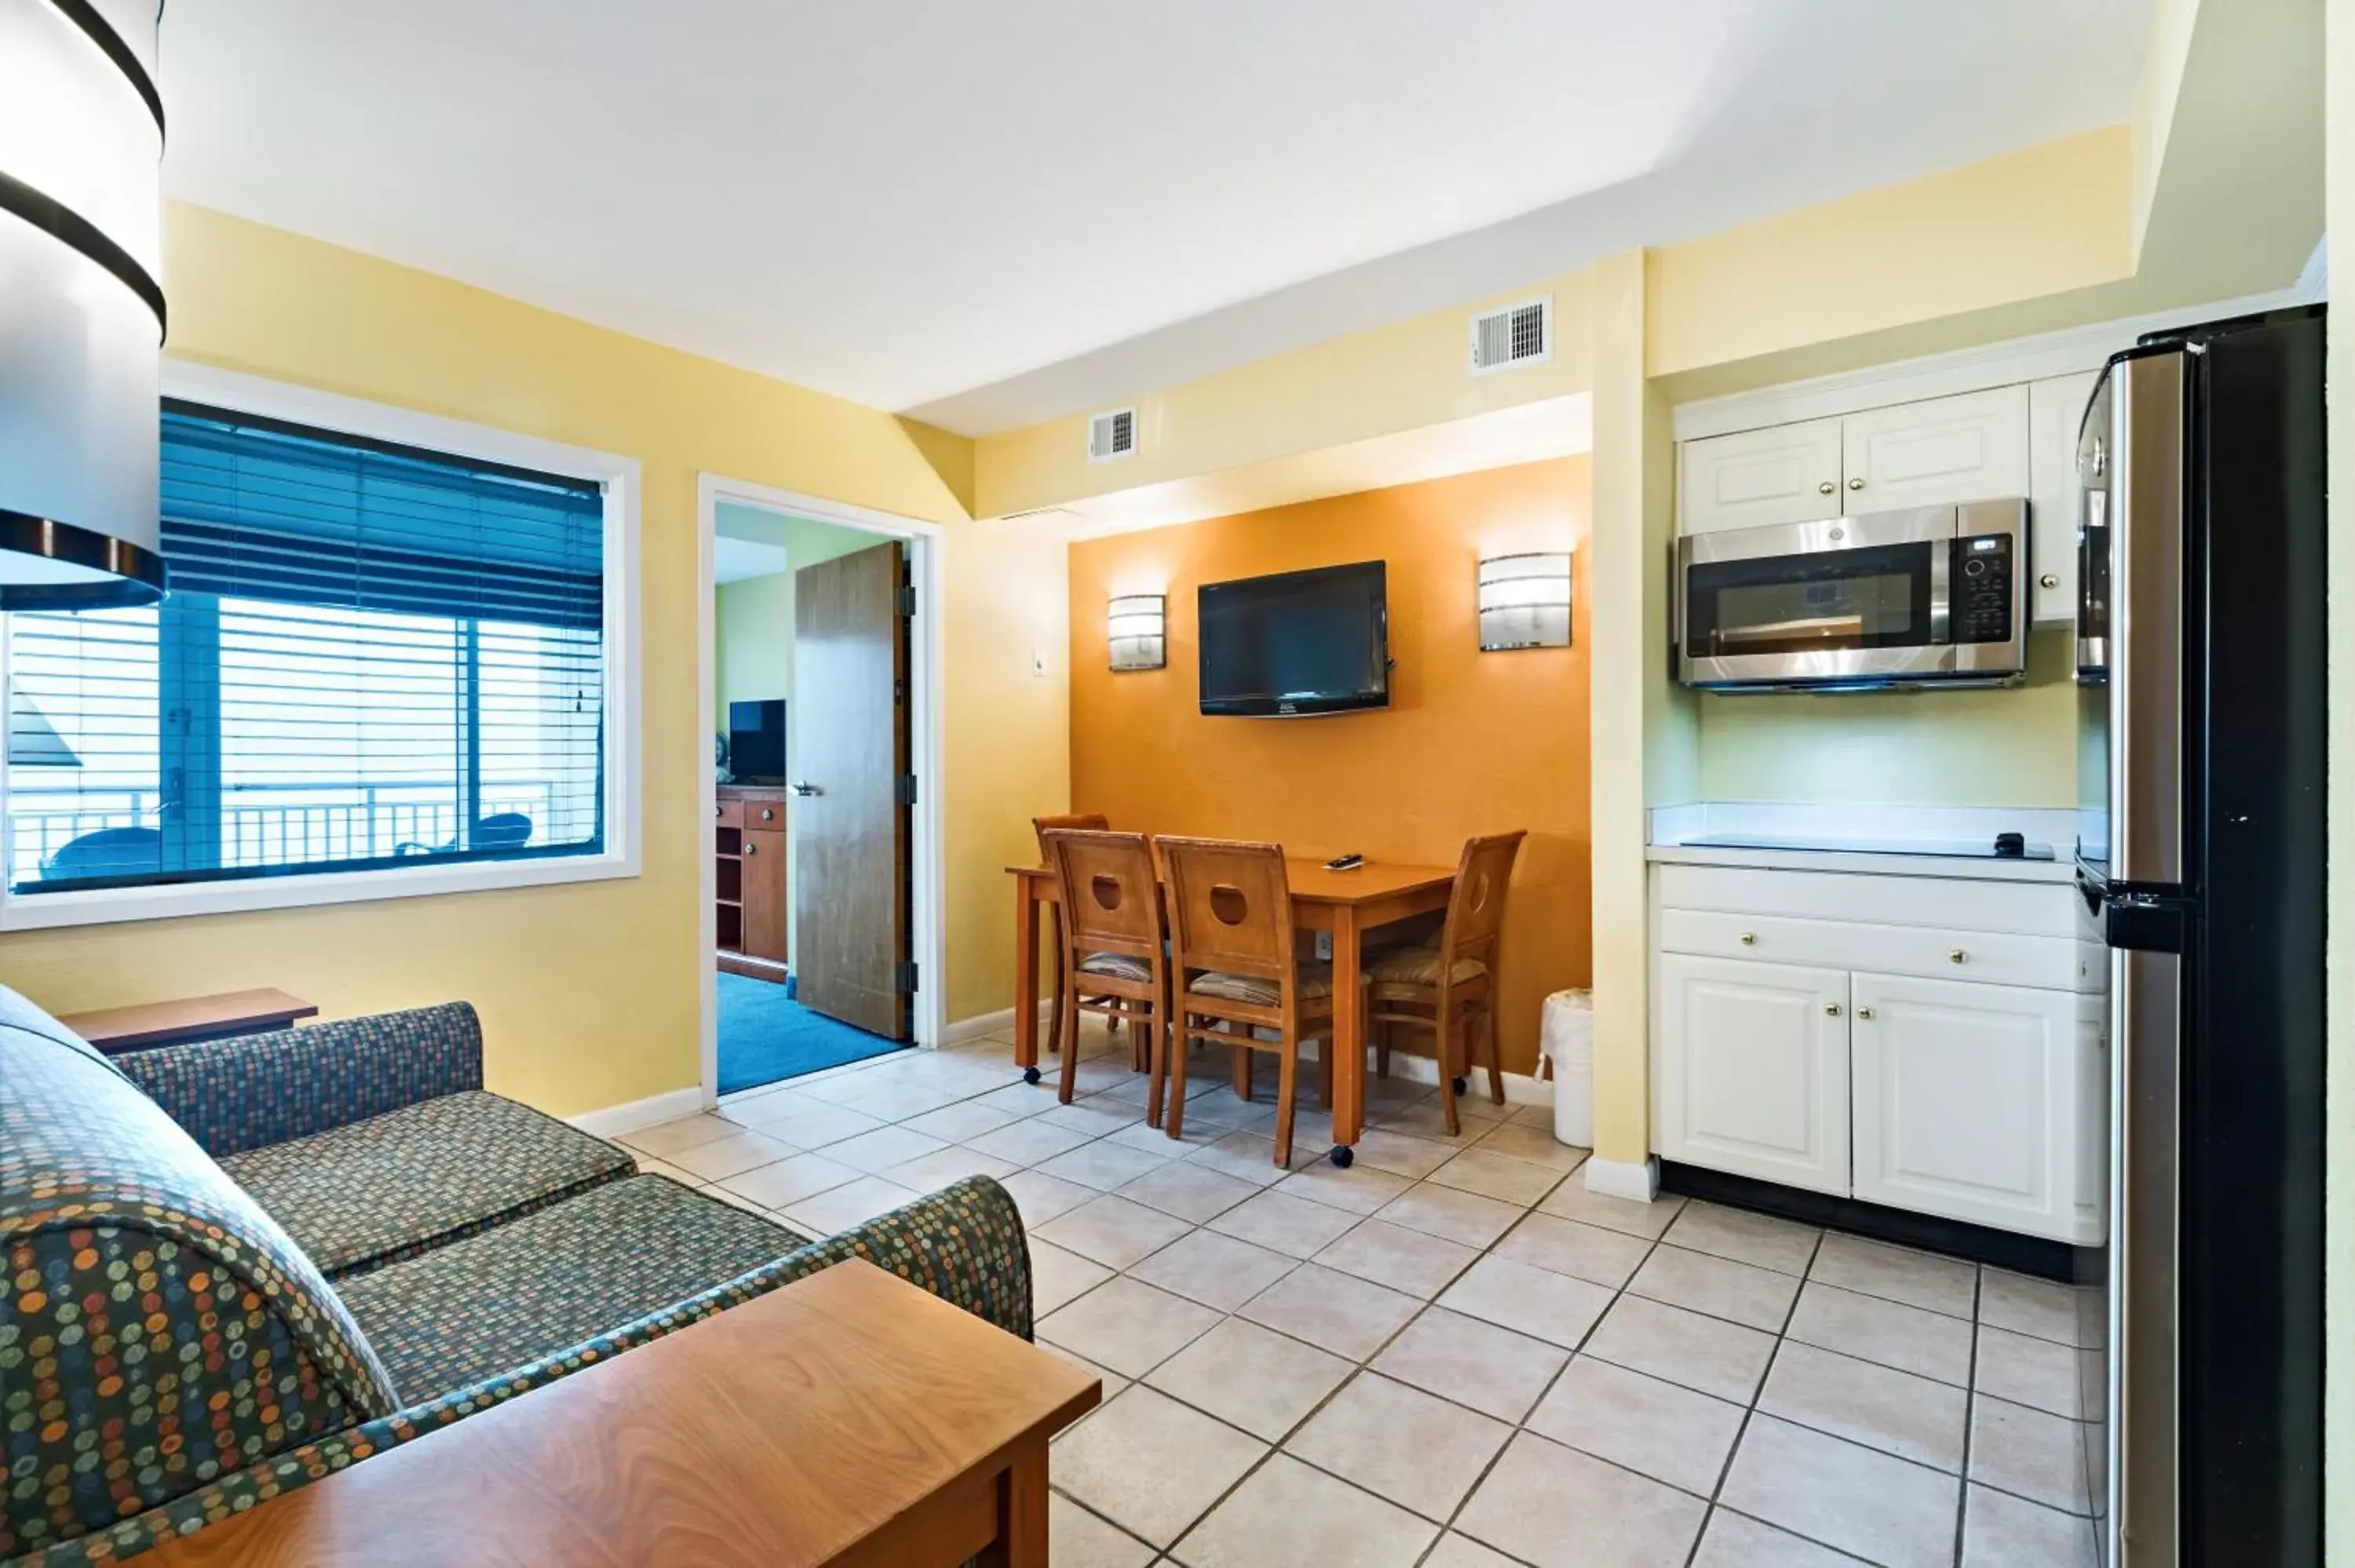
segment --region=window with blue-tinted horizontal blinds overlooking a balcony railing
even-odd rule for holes
[[[165,403],[172,591],[5,617],[14,911],[603,857],[605,553],[603,480]]]

